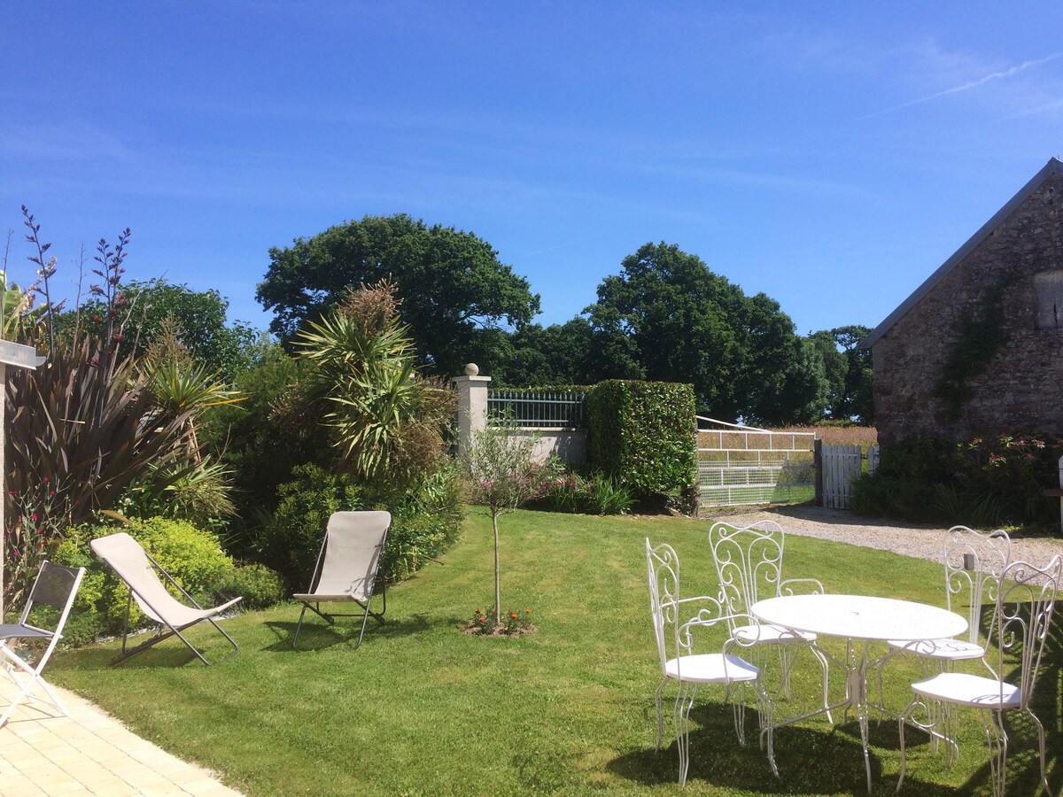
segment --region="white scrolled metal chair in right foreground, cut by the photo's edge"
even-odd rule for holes
[[[966,673],[940,673],[927,680],[912,684],[912,701],[900,713],[900,778],[897,791],[905,781],[908,761],[905,748],[905,726],[922,727],[930,734],[941,736],[933,725],[919,726],[913,719],[926,701],[937,701],[947,714],[958,708],[979,709],[985,739],[990,748],[990,774],[995,797],[1003,797],[1008,767],[1008,732],[1003,725],[1006,711],[1022,711],[1034,724],[1041,744],[1041,785],[1051,797],[1048,785],[1045,729],[1030,709],[1030,699],[1037,683],[1037,672],[1051,632],[1052,609],[1060,588],[1063,559],[1052,557],[1045,567],[1027,562],[1010,562],[997,579],[997,598],[993,626],[988,644],[995,643],[997,652],[983,657],[988,675]],[[1003,680],[1006,667],[1018,661],[1017,683]]]

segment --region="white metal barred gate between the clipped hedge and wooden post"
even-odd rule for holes
[[[702,509],[812,499],[815,494],[814,435],[698,420],[721,427],[697,431],[697,486]]]

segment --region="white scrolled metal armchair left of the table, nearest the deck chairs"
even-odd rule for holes
[[[729,639],[723,652],[695,654],[694,631],[709,629],[720,623],[748,617],[731,617],[720,600],[708,597],[679,597],[679,559],[671,545],[657,546],[646,539],[646,567],[649,578],[649,609],[660,658],[661,682],[657,686],[657,750],[660,750],[664,733],[664,716],[661,707],[664,686],[674,680],[678,684],[673,720],[675,723],[676,747],[679,751],[679,784],[687,782],[690,767],[690,709],[694,705],[697,688],[703,683],[722,684],[730,696],[732,688],[738,688],[739,698],[732,700],[735,732],[739,744],[745,744],[745,686],[752,684],[757,698],[757,714],[761,743],[766,744],[767,761],[775,777],[779,770],[775,765],[775,747],[772,735],[772,702],[760,686],[760,671],[753,664],[733,656],[729,650],[735,645],[747,646],[741,640]],[[726,699],[726,698],[725,698]]]

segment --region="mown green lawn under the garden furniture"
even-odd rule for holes
[[[388,624],[361,648],[353,623],[311,621],[293,651],[296,606],[226,622],[240,652],[204,667],[168,641],[117,667],[118,643],[58,656],[50,678],[98,702],[167,750],[219,771],[250,795],[306,794],[803,794],[864,793],[859,731],[849,716],[812,719],[776,735],[781,780],[756,741],[737,745],[719,691],[698,693],[686,790],[668,712],[667,745],[654,752],[659,668],[645,583],[645,537],[672,543],[684,594],[715,592],[709,524],[671,518],[586,518],[518,512],[502,519],[503,607],[533,610],[539,631],[519,639],[469,637],[461,628],[491,603],[489,520],[474,510],[440,563],[388,593]],[[830,592],[943,601],[941,566],[808,538],[787,541],[789,576]],[[1058,626],[1058,624],[1057,624]],[[192,633],[207,658],[224,654],[213,629]],[[1049,733],[1049,779],[1063,782],[1060,634],[1039,686]],[[800,654],[795,692],[814,700],[820,671]],[[843,690],[832,675],[833,691]],[[896,662],[887,703],[899,708],[918,671]],[[793,707],[790,707],[793,708]],[[783,707],[781,711],[786,711]],[[988,793],[977,715],[961,717],[961,758],[946,770],[926,737],[908,734],[902,794]],[[755,736],[750,713],[747,731]],[[1009,792],[1033,794],[1035,736],[1011,734]],[[872,726],[875,793],[893,794],[899,771],[893,720]]]

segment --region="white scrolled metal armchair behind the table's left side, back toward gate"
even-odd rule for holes
[[[782,552],[786,533],[775,521],[759,521],[748,526],[714,523],[709,528],[709,546],[720,577],[720,595],[728,614],[749,616],[749,607],[758,600],[798,592],[823,594],[823,584],[814,578],[782,578]],[[730,621],[731,637],[743,644],[756,644],[756,663],[763,668],[763,654],[778,652],[781,671],[781,692],[790,699],[790,671],[794,657],[807,647],[823,668],[823,707],[829,705],[828,666],[826,657],[812,643],[814,633],[792,631],[779,626],[759,623],[750,617],[743,624]],[[827,710],[827,719],[833,722]]]

